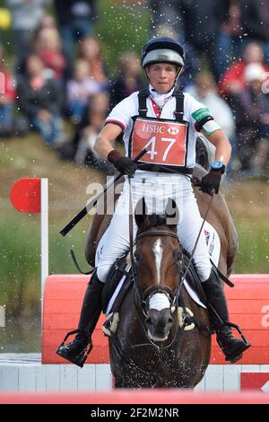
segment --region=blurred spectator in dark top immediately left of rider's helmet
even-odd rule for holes
[[[110,90],[110,105],[114,108],[119,101],[135,91],[143,88],[143,77],[140,72],[139,59],[132,52],[125,52],[119,63],[120,75],[112,83]]]

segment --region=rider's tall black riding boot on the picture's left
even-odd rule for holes
[[[91,334],[100,317],[103,286],[104,283],[100,282],[96,271],[92,273],[91,281],[87,286],[82,303],[78,330],[67,333],[64,342],[56,351],[57,355],[80,367],[84,365],[92,349]],[[65,345],[65,340],[75,333],[77,335],[74,340]]]

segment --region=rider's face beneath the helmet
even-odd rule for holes
[[[169,92],[175,84],[178,68],[170,63],[156,63],[146,68],[152,87],[160,93]]]

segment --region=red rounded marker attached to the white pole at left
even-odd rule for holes
[[[16,180],[10,193],[13,207],[20,213],[41,212],[41,179]]]

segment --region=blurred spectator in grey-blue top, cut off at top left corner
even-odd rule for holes
[[[29,55],[34,33],[46,13],[46,7],[51,4],[51,0],[5,0],[5,3],[12,12],[14,47],[17,58],[16,70],[17,73],[22,73],[23,63]]]

